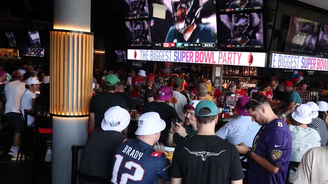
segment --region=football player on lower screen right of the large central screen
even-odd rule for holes
[[[252,20],[253,21],[251,21],[251,16],[249,14],[237,14],[233,18],[230,45],[262,45],[261,41],[254,39],[256,36],[254,36],[255,31],[253,23],[258,22],[259,24],[259,18],[258,16],[252,16]]]

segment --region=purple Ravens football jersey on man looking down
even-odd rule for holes
[[[292,136],[282,119],[263,125],[256,134],[252,150],[279,167],[274,174],[249,159],[248,183],[285,183],[292,150]]]

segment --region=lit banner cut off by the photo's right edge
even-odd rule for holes
[[[328,70],[328,59],[300,55],[271,53],[271,68]]]

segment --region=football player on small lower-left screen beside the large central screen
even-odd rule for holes
[[[149,26],[146,21],[133,22],[133,40],[132,44],[149,45],[150,41],[147,38]]]

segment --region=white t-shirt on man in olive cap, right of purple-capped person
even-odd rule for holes
[[[173,91],[173,97],[169,101],[169,105],[172,106],[179,115],[182,122],[185,121],[185,113],[183,107],[188,104],[187,98],[178,91]]]

